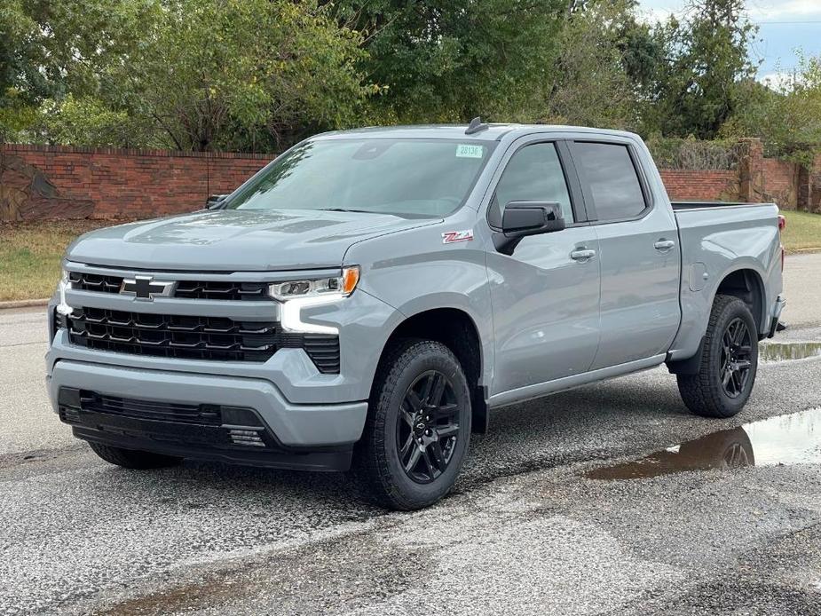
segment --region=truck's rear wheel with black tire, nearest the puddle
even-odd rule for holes
[[[740,330],[739,324],[743,324],[748,335],[743,340],[744,344],[730,345],[730,354],[725,336],[732,334],[730,329],[733,327]],[[735,375],[731,375],[732,384],[725,383],[728,370],[735,372],[730,368],[745,362],[749,366],[744,376],[737,380]],[[753,314],[738,297],[716,296],[701,352],[699,372],[695,375],[677,375],[678,391],[684,404],[691,412],[704,417],[736,415],[750,398],[757,370],[758,328],[755,327]]]

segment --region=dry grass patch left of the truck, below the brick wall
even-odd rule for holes
[[[107,220],[0,223],[0,301],[50,297],[68,244],[82,233],[112,224]]]

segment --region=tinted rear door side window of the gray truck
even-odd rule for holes
[[[627,146],[577,141],[573,154],[599,221],[636,217],[647,207]]]

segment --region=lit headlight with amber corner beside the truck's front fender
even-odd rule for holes
[[[359,282],[359,267],[344,267],[341,276],[277,282],[268,288],[269,294],[282,303],[280,323],[285,331],[303,334],[336,336],[339,329],[331,325],[306,323],[302,309],[333,304],[350,296]]]

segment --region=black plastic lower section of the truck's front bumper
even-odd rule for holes
[[[162,407],[162,419],[145,416],[160,414],[158,408],[157,403],[139,400],[116,399],[113,404],[111,399],[88,391],[61,388],[59,392],[59,418],[83,440],[274,469],[342,471],[351,467],[352,444],[283,446],[253,409],[208,407],[206,413],[195,415],[187,408],[166,406]],[[242,423],[236,423],[238,419]]]

